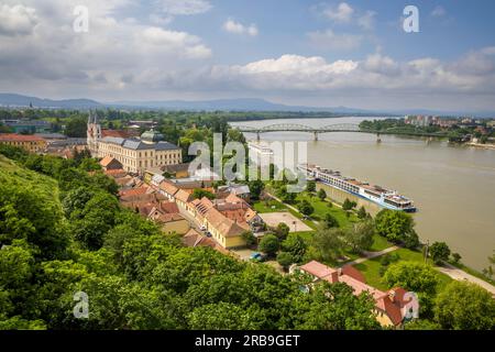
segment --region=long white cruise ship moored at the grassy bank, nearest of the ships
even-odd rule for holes
[[[340,172],[322,168],[318,165],[304,164],[299,165],[298,168],[315,180],[365,198],[384,208],[407,212],[415,212],[417,210],[413,204],[413,200],[399,195],[395,190],[389,190],[376,185],[370,185],[369,183],[362,183],[355,178],[344,177],[340,174]]]

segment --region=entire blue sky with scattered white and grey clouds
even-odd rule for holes
[[[2,0],[0,90],[495,110],[494,15],[490,0]]]

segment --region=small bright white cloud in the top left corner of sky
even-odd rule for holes
[[[0,4],[0,35],[30,34],[36,23],[36,11],[33,8]]]

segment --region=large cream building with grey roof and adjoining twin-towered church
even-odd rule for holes
[[[90,114],[87,130],[87,143],[94,157],[114,157],[124,170],[135,174],[143,174],[147,168],[182,163],[180,147],[164,141],[163,135],[153,129],[139,139],[114,136],[114,133],[105,135],[97,119]]]

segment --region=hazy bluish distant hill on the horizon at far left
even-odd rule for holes
[[[33,108],[48,109],[92,109],[102,107],[100,102],[90,99],[52,100],[15,94],[0,94],[0,106],[2,107],[29,107],[31,105]]]

